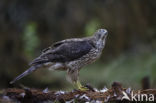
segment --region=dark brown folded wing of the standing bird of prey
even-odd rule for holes
[[[93,46],[88,41],[64,42],[42,53],[31,62],[31,65],[46,62],[69,62],[87,54],[92,48]]]

